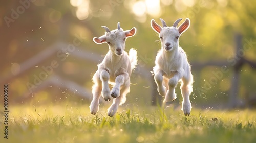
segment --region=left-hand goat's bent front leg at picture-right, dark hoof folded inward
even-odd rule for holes
[[[128,78],[128,74],[125,73],[125,74],[121,74],[121,75],[118,75],[115,79],[115,86],[112,88],[111,90],[111,93],[110,95],[113,97],[113,98],[117,98],[120,96],[120,86],[123,85],[124,81],[127,80]]]

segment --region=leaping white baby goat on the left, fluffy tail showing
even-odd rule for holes
[[[119,105],[126,101],[126,94],[130,92],[130,76],[132,70],[137,65],[137,51],[130,49],[129,55],[124,51],[125,40],[136,33],[136,28],[123,31],[120,23],[117,29],[110,31],[108,27],[102,26],[106,32],[99,38],[94,37],[96,44],[108,43],[109,52],[103,61],[98,64],[98,70],[93,76],[94,85],[92,87],[93,100],[90,105],[91,114],[96,114],[99,110],[99,99],[102,93],[105,101],[114,101],[108,109],[108,116],[112,117]],[[114,86],[110,91],[109,82]]]

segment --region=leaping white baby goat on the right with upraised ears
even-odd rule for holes
[[[192,108],[189,94],[193,91],[193,76],[186,53],[179,46],[179,37],[188,29],[190,20],[187,18],[178,28],[177,25],[182,19],[178,19],[172,27],[166,26],[163,19],[160,20],[163,27],[159,26],[154,19],[151,20],[151,27],[159,33],[162,44],[153,68],[157,90],[161,96],[165,97],[164,104],[173,101],[176,99],[175,87],[181,79],[182,110],[185,115],[189,115]]]

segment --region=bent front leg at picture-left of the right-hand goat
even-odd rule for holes
[[[157,84],[157,91],[161,96],[165,96],[166,94],[166,87],[163,86],[163,71],[159,70],[155,73],[154,76],[155,82]]]

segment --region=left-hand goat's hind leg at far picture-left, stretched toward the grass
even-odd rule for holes
[[[89,107],[90,107],[91,114],[95,115],[99,110],[99,99],[100,99],[101,90],[102,90],[102,84],[99,78],[98,71],[96,71],[96,73],[93,76],[93,82],[94,82],[94,85],[92,87],[93,100]]]

